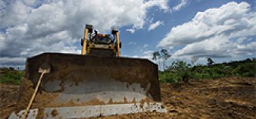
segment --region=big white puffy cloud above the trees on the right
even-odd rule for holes
[[[172,27],[158,47],[181,47],[174,57],[239,57],[255,55],[256,12],[250,4],[227,3],[196,13]]]

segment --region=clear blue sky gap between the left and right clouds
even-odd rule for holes
[[[179,1],[169,2],[169,6],[175,6]],[[155,28],[154,30],[148,31],[148,27],[150,26],[150,23],[147,23],[144,28],[141,30],[138,30],[134,32],[134,34],[131,34],[129,32],[125,32],[125,29],[127,27],[120,28],[122,35],[121,39],[123,42],[122,47],[122,54],[125,54],[127,56],[143,56],[143,51],[160,51],[161,47],[157,47],[157,44],[165,37],[165,35],[170,31],[170,28],[176,27],[177,25],[181,25],[182,23],[186,23],[191,21],[191,19],[194,18],[196,13],[198,11],[205,11],[209,8],[219,8],[223,4],[227,4],[229,2],[246,2],[250,4],[250,9],[252,11],[255,11],[255,1],[188,1],[188,3],[179,11],[172,11],[172,12],[162,12],[158,9],[150,9],[148,11],[148,17],[153,18],[153,22],[156,22],[158,20],[164,22],[164,25],[160,25],[159,27]],[[255,33],[256,35],[256,33]],[[253,41],[255,41],[255,36],[251,37]],[[130,43],[130,44],[129,44]],[[144,49],[141,49],[143,46],[148,46]],[[174,47],[174,49],[170,50],[170,53],[174,53],[181,47]],[[210,57],[210,56],[209,56]],[[252,56],[243,57],[240,58],[214,58],[215,62],[223,62],[223,61],[232,61],[232,60],[241,60],[245,58],[253,58],[255,57],[255,53]],[[174,59],[177,60],[177,59]],[[178,58],[178,60],[185,60],[189,61],[189,59],[182,59]],[[200,63],[205,63],[205,58],[202,58]]]

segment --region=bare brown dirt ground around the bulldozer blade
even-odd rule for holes
[[[0,118],[15,110],[19,85],[0,84]],[[256,78],[191,80],[161,84],[168,113],[138,113],[98,118],[256,118]]]

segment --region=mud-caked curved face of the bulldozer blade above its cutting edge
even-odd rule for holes
[[[41,90],[58,93],[58,104],[128,103],[143,99],[160,101],[157,65],[149,60],[106,58],[75,54],[46,53],[27,60],[25,77],[36,83],[42,63],[51,73],[42,80]],[[46,105],[47,106],[47,105]]]

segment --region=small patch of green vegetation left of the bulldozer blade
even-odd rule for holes
[[[0,83],[1,84],[20,84],[23,77],[23,71],[15,70],[14,68],[0,68]]]

